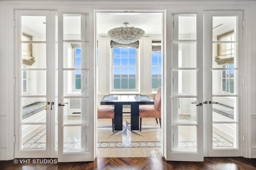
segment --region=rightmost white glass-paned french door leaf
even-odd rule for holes
[[[205,156],[242,156],[242,17],[204,12]]]

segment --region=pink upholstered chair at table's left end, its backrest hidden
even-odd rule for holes
[[[114,107],[98,107],[98,119],[112,119],[112,131],[114,132]]]

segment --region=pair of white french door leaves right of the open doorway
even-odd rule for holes
[[[175,13],[171,23],[166,160],[242,156],[242,11]]]

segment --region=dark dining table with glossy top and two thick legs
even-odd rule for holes
[[[131,130],[139,130],[139,105],[154,105],[148,96],[114,95],[104,96],[100,105],[114,105],[115,130],[123,129],[123,105],[131,105]]]

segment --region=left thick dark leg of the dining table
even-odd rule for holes
[[[115,104],[114,127],[115,130],[123,130],[123,105]]]

